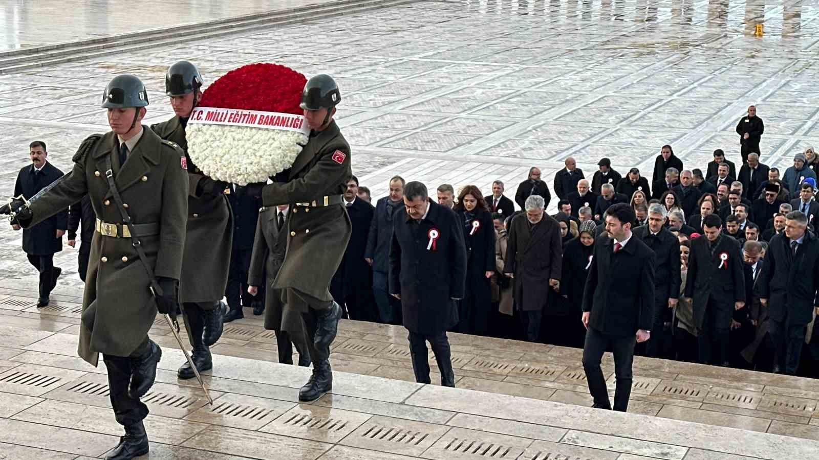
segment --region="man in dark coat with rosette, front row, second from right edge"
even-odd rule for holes
[[[686,300],[693,299],[699,331],[699,362],[726,365],[731,318],[745,305],[745,278],[740,243],[722,234],[722,219],[703,220],[705,237],[691,241]]]

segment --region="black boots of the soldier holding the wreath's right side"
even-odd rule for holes
[[[338,320],[342,318],[342,308],[335,302],[326,310],[313,311],[316,328],[310,359],[313,361],[313,375],[299,390],[300,401],[319,399],[322,393],[333,390],[333,371],[330,368],[330,345],[338,332]]]

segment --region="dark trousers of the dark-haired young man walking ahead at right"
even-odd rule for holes
[[[614,377],[617,379],[617,386],[614,389],[614,410],[626,412],[631,396],[631,363],[634,361],[635,344],[636,336],[608,336],[592,327],[586,331],[583,370],[586,371],[586,382],[589,384],[591,397],[595,399],[595,408],[612,408],[606,379],[600,369],[600,360],[603,359],[606,348],[611,346],[614,354]]]

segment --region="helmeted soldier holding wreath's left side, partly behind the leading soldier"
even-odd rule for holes
[[[213,368],[210,345],[222,335],[227,306],[221,301],[228,282],[233,225],[224,190],[228,184],[215,181],[201,172],[188,156],[185,127],[188,116],[201,97],[201,74],[188,61],[170,66],[165,75],[165,94],[170,97],[174,118],[151,129],[160,138],[179,145],[188,164],[188,229],[179,280],[179,302],[182,304],[188,340],[193,347],[193,363],[199,372]],[[196,377],[186,361],[177,375],[181,379]]]

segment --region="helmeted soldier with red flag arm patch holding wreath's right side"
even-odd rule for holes
[[[333,387],[330,344],[342,316],[329,291],[352,231],[342,204],[352,176],[350,146],[333,120],[339,101],[341,93],[329,75],[310,79],[301,94],[310,141],[274,183],[248,186],[251,195],[261,195],[265,206],[291,209],[287,254],[273,287],[283,290],[283,328],[295,320],[306,332],[313,375],[299,391],[301,401],[317,399]]]

